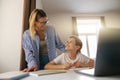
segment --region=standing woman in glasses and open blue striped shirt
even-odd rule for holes
[[[32,11],[29,18],[29,30],[23,34],[23,49],[28,68],[24,72],[43,69],[44,65],[56,56],[56,48],[65,52],[64,45],[52,26],[48,22],[46,13],[41,9]]]

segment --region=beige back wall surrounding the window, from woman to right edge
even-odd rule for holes
[[[100,14],[49,13],[48,17],[50,24],[54,25],[63,42],[65,42],[67,38],[73,33],[73,16],[105,16],[106,27],[120,28],[120,13],[118,12],[107,12]]]

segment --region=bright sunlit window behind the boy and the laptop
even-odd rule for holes
[[[83,42],[82,54],[90,58],[96,57],[97,33],[102,26],[102,18],[76,18],[77,34]]]

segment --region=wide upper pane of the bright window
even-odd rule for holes
[[[77,20],[78,33],[82,33],[82,34],[97,33],[100,27],[101,25],[99,19]]]

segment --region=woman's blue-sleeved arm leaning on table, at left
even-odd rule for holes
[[[27,61],[27,69],[33,69],[33,67],[38,67],[36,63],[36,59],[34,57],[34,51],[32,48],[31,40],[30,40],[30,35],[28,30],[24,32],[23,34],[23,40],[22,40],[22,47],[25,51],[25,58]]]

